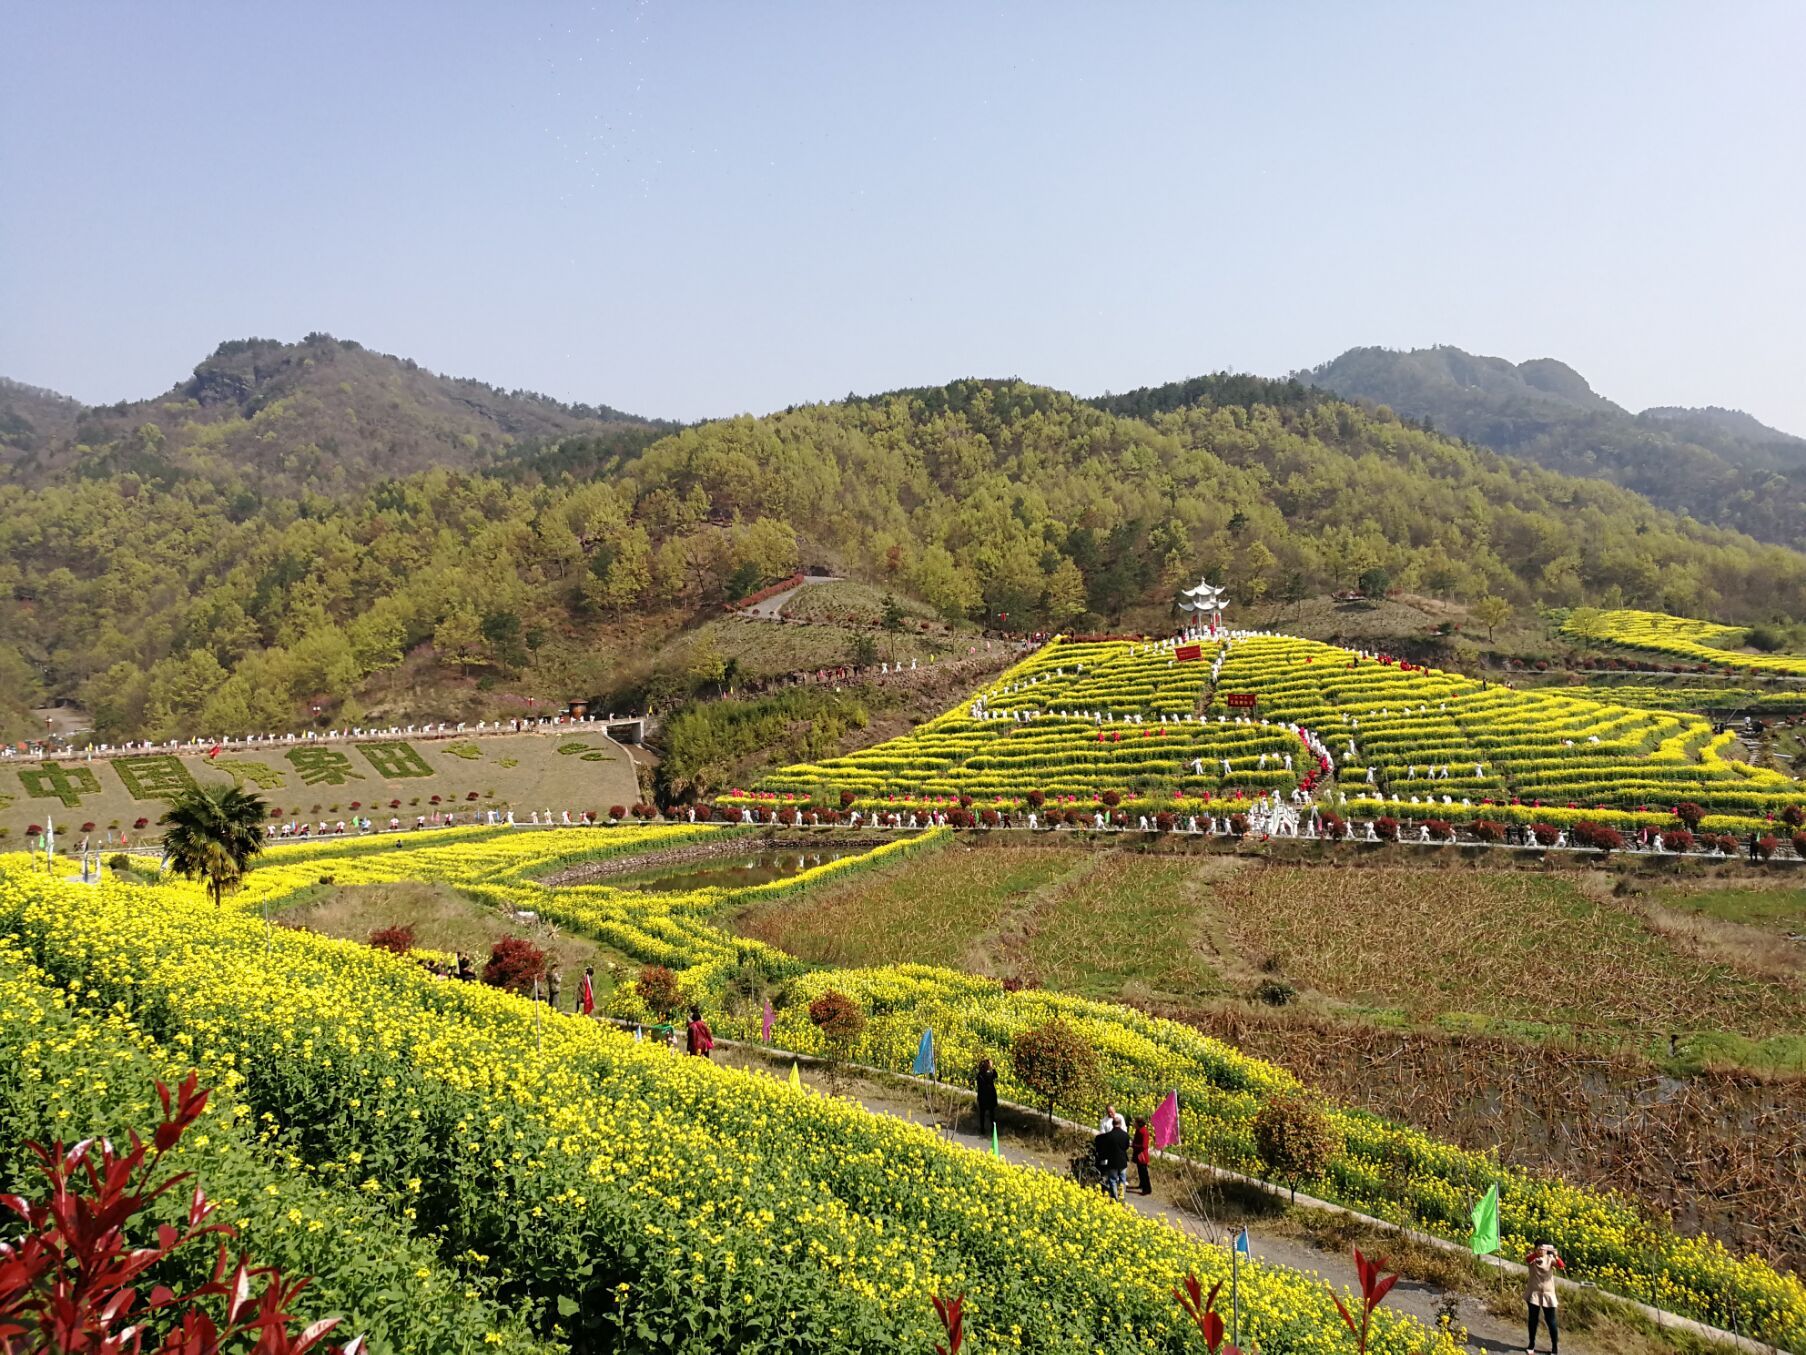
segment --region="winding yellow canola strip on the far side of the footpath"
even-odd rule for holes
[[[612,844],[612,851],[648,851],[726,831],[621,827],[600,836]],[[468,836],[459,840],[459,833]],[[880,970],[807,970],[791,956],[735,938],[712,921],[713,914],[728,905],[807,891],[849,871],[881,869],[917,851],[932,851],[948,836],[939,829],[899,838],[863,856],[820,865],[800,876],[753,889],[708,889],[684,894],[647,894],[605,883],[549,889],[529,878],[551,874],[569,862],[591,856],[598,851],[594,829],[513,836],[497,836],[486,829],[459,829],[419,849],[406,849],[406,844],[388,844],[386,849],[365,842],[312,844],[273,849],[235,896],[235,909],[249,912],[305,889],[321,876],[323,867],[329,867],[340,883],[448,880],[497,907],[533,909],[563,927],[605,939],[639,961],[670,965],[679,970],[684,997],[701,1003],[722,1033],[759,1037],[757,1012],[735,995],[735,979],[748,967],[764,974],[768,981],[782,985],[773,1035],[780,1048],[827,1051],[805,1010],[813,997],[829,988],[852,995],[870,1017],[852,1051],[860,1062],[905,1071],[914,1059],[921,1030],[932,1026],[941,1075],[963,1084],[970,1084],[979,1057],[1004,1053],[1017,1032],[1058,1015],[1098,1050],[1107,1091],[1118,1102],[1152,1104],[1165,1091],[1176,1089],[1187,1126],[1185,1151],[1235,1171],[1259,1173],[1252,1118],[1264,1098],[1297,1088],[1297,1080],[1273,1064],[1248,1059],[1188,1026],[1112,1003],[1049,992],[1011,994],[990,979],[917,965]],[[18,871],[20,865],[14,865],[14,878]],[[23,878],[33,876],[27,871]],[[42,882],[42,876],[34,882]],[[74,900],[88,898],[79,887],[63,889],[70,891]],[[150,892],[130,885],[108,885],[108,889],[121,891],[125,900],[143,900]],[[199,891],[191,885],[159,885],[155,896],[197,900]],[[65,894],[63,902],[67,905],[70,896]],[[256,943],[262,930],[231,936],[242,950],[246,943]],[[285,934],[278,939],[282,947],[302,945],[303,950],[307,945],[327,945]],[[98,952],[74,938],[58,945],[74,956]],[[144,963],[168,959],[155,959],[157,945],[157,939],[150,939],[137,947],[146,954]],[[278,961],[284,954],[280,947],[275,950]],[[134,976],[128,976],[130,985],[143,985],[143,979]],[[88,981],[85,974],[78,977]],[[446,986],[428,981],[424,994],[410,990],[406,1003],[426,1003],[437,1012],[437,999],[444,997]],[[148,994],[139,986],[137,995]],[[372,990],[370,1001],[390,1005],[394,999]],[[488,1012],[488,1006],[484,1010]],[[609,1012],[625,1019],[650,1019],[632,985],[616,988]],[[240,1012],[231,1019],[251,1017]],[[437,1015],[424,1019],[437,1030]],[[567,1035],[560,1035],[560,1041],[563,1039]],[[251,1046],[244,1046],[244,1051],[249,1053]],[[441,1053],[457,1059],[452,1044],[442,1046]],[[1008,1059],[999,1062],[1004,1095],[1033,1100],[1026,1088],[1015,1084]],[[650,1064],[650,1068],[659,1066]],[[506,1095],[513,1097],[515,1091]],[[280,1109],[276,1113],[280,1115]],[[1501,1167],[1485,1154],[1436,1142],[1365,1113],[1336,1111],[1335,1118],[1344,1133],[1345,1151],[1324,1178],[1300,1183],[1311,1194],[1459,1241],[1466,1236],[1466,1216],[1474,1200],[1488,1185],[1499,1183],[1506,1250],[1551,1238],[1568,1257],[1575,1277],[1654,1301],[1683,1315],[1718,1324],[1736,1322],[1739,1330],[1783,1346],[1806,1342],[1806,1286],[1793,1276],[1777,1274],[1757,1257],[1732,1256],[1708,1238],[1680,1236],[1667,1221],[1647,1218],[1616,1196]],[[493,1185],[486,1183],[484,1189]]]

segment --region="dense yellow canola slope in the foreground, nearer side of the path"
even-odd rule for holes
[[[470,846],[457,865],[497,864],[495,844]],[[457,851],[423,855],[450,869]],[[316,869],[260,869],[240,903]],[[4,959],[29,956],[52,990],[5,1005],[9,1039],[49,1006],[191,1059],[229,1088],[233,1122],[352,1191],[370,1182],[390,1218],[560,1341],[926,1350],[930,1297],[964,1294],[973,1350],[1181,1351],[1172,1285],[1226,1270],[1046,1173],[580,1017],[536,1023],[524,999],[403,958],[269,934],[191,885],[81,885],[7,856],[0,916]],[[1291,1272],[1244,1270],[1243,1322],[1268,1351],[1342,1348],[1326,1286]],[[1454,1350],[1392,1313],[1373,1348]]]

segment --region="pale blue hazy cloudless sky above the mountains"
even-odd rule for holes
[[[1358,343],[1806,434],[1806,4],[0,0],[0,374],[641,414]]]

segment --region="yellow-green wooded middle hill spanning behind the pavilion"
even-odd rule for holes
[[[0,484],[0,674],[112,735],[358,719],[410,656],[540,699],[614,694],[802,564],[1011,631],[1165,625],[1199,571],[1243,602],[1383,571],[1454,600],[1806,609],[1793,551],[1320,392],[1217,394],[1132,419],[957,381],[336,497],[134,470]],[[408,699],[386,714],[433,712],[430,687]]]

